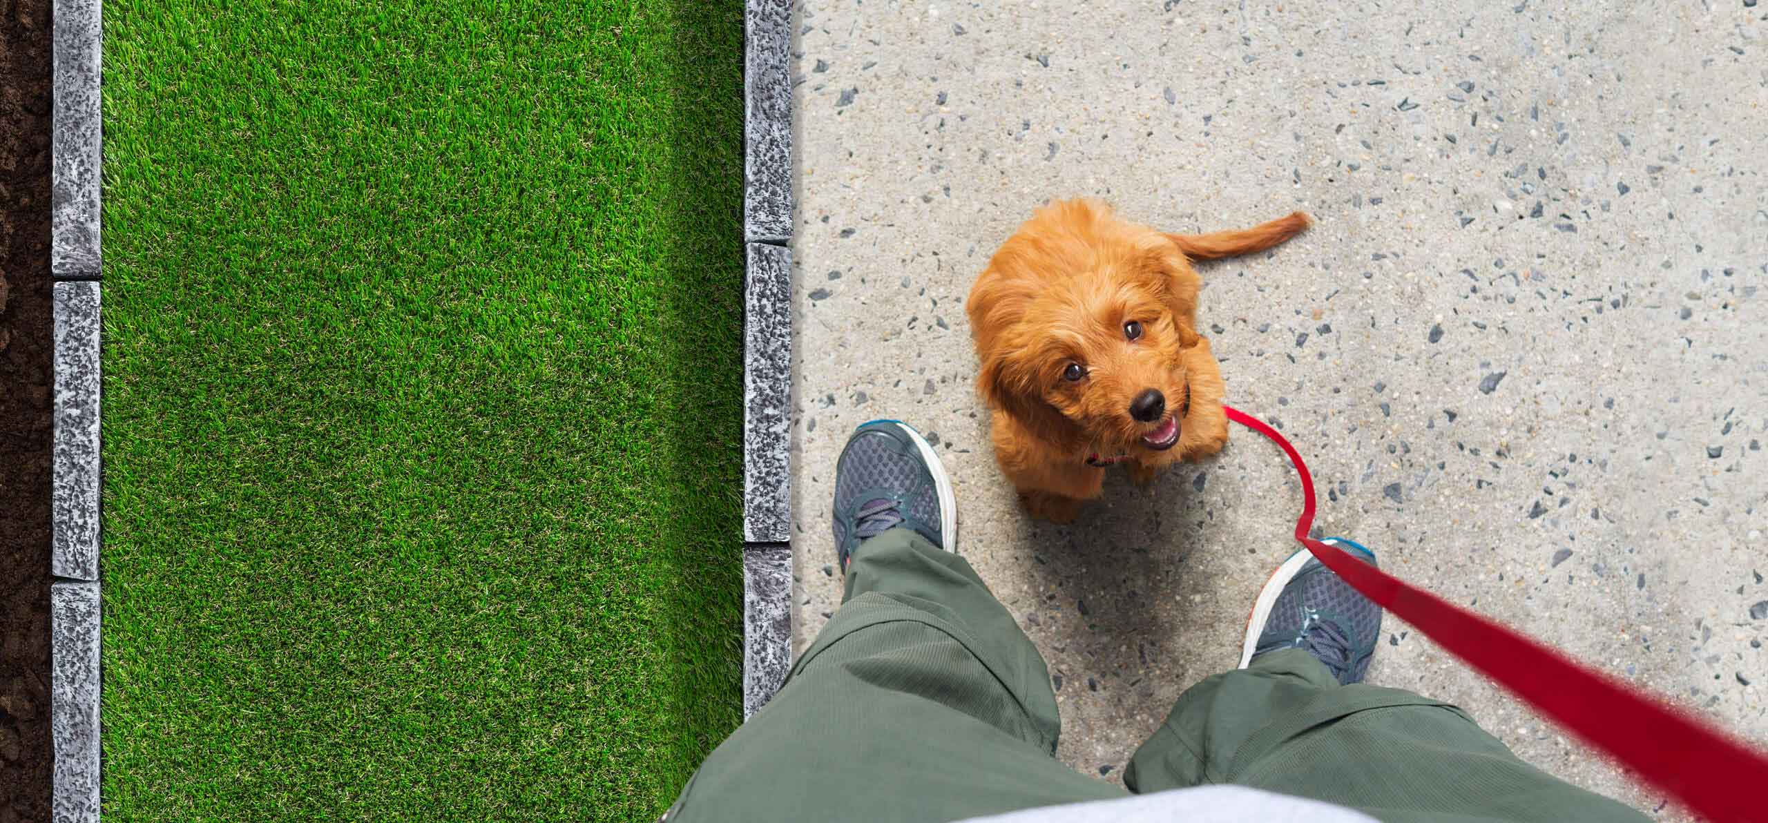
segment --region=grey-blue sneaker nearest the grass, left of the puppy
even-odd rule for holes
[[[956,551],[958,500],[921,433],[900,420],[872,420],[854,429],[834,463],[834,553],[842,570],[861,542],[896,526]]]

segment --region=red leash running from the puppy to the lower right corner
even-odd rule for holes
[[[1227,408],[1234,420],[1271,438],[1301,475],[1296,542],[1363,597],[1485,673],[1505,689],[1602,749],[1646,782],[1715,823],[1768,819],[1768,756],[1696,721],[1669,703],[1586,669],[1563,653],[1489,618],[1402,583],[1344,551],[1308,539],[1314,526],[1314,477],[1296,447],[1262,420]]]

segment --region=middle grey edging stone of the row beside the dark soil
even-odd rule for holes
[[[55,284],[50,570],[99,578],[99,284]]]

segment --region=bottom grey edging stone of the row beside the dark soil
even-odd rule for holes
[[[53,819],[99,819],[99,585],[50,586],[50,735]]]

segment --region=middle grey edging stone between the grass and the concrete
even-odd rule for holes
[[[743,539],[785,542],[792,525],[792,251],[748,245],[743,328]]]

